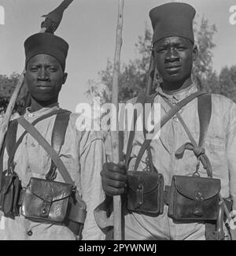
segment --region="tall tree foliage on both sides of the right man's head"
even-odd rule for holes
[[[219,76],[212,69],[212,49],[216,46],[213,37],[216,26],[210,25],[205,17],[201,17],[199,24],[194,23],[195,42],[199,56],[194,61],[193,79],[201,90],[208,92],[222,91],[219,89]],[[135,50],[138,53],[135,60],[121,65],[120,69],[120,102],[133,98],[146,89],[149,58],[151,54],[152,33],[146,27],[144,35],[138,37]],[[156,71],[154,87],[160,85],[161,79]],[[89,97],[100,96],[103,102],[109,102],[112,91],[112,62],[108,61],[105,70],[98,72],[98,81],[90,80],[86,94]]]

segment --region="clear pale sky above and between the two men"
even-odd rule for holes
[[[21,72],[24,68],[24,40],[39,32],[43,14],[49,13],[62,0],[0,0],[5,9],[5,24],[0,24],[0,74]],[[146,24],[151,28],[149,10],[171,2],[166,0],[124,0],[124,44],[122,61],[135,58],[135,43]],[[217,72],[225,65],[236,65],[236,24],[230,24],[230,6],[236,0],[186,0],[216,24],[213,67]],[[66,71],[68,80],[61,91],[61,107],[74,111],[86,102],[87,81],[97,79],[113,58],[116,39],[117,0],[75,0],[65,11],[56,35],[70,45]],[[236,7],[235,11],[236,12]],[[1,19],[0,19],[1,20]],[[233,21],[236,21],[236,15]],[[236,23],[236,22],[235,22]]]

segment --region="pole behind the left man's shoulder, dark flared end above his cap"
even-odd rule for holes
[[[41,30],[40,32],[48,32],[48,33],[54,33],[61,23],[61,19],[63,17],[63,13],[65,9],[73,2],[73,0],[64,0],[60,6],[58,6],[56,9],[54,9],[52,12],[50,12],[47,15],[44,15],[43,17],[46,17],[46,19],[41,24]],[[4,142],[4,138],[9,126],[9,120],[12,116],[13,109],[15,106],[15,103],[17,102],[17,97],[20,94],[20,89],[24,84],[24,73],[25,70],[20,75],[20,80],[17,83],[17,86],[15,87],[13,91],[13,95],[11,96],[9,100],[9,104],[6,109],[5,116],[3,118],[1,127],[0,127],[0,151],[2,150],[2,145]]]

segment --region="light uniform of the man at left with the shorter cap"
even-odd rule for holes
[[[46,113],[58,109],[58,106],[43,108],[35,113],[28,111],[24,117],[32,122]],[[77,189],[87,204],[87,218],[83,228],[83,239],[104,239],[105,236],[94,221],[94,208],[104,198],[101,188],[101,168],[105,160],[105,147],[103,139],[98,132],[78,132],[76,130],[76,118],[78,114],[71,113],[68,128],[65,134],[65,143],[61,147],[60,158],[64,162],[68,172],[75,181]],[[46,118],[35,125],[35,128],[50,143],[53,124],[56,116]],[[24,128],[18,124],[17,139],[24,132]],[[4,169],[7,168],[8,155],[4,154]],[[50,169],[50,158],[39,143],[25,135],[20,147],[17,149],[14,161],[17,165],[15,172],[22,180],[23,187],[28,185],[31,177],[45,179]],[[65,182],[57,171],[56,181]],[[15,220],[2,216],[0,212],[0,240],[3,239],[46,239],[46,240],[72,240],[76,236],[66,227],[54,224],[39,224],[28,221],[23,216]]]

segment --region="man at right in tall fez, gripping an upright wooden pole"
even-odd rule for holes
[[[168,3],[157,6],[149,13],[153,24],[153,49],[157,70],[163,83],[158,88],[154,103],[160,103],[161,117],[164,117],[171,106],[176,106],[184,98],[197,92],[197,86],[191,79],[193,61],[197,58],[197,46],[194,44],[193,19],[195,9],[185,3]],[[136,98],[131,102],[135,103]],[[200,107],[200,106],[198,106]],[[186,127],[196,142],[199,139],[199,116],[197,112],[197,98],[179,110]],[[160,129],[160,139],[150,143],[150,153],[155,169],[164,177],[164,186],[170,186],[173,176],[193,176],[198,168],[198,157],[208,156],[212,165],[213,178],[221,181],[221,195],[232,198],[233,210],[236,210],[236,106],[230,99],[222,95],[212,95],[212,116],[205,137],[205,151],[199,148],[187,148],[190,138],[183,128],[182,122],[176,115]],[[124,154],[127,153],[128,133],[125,132]],[[102,184],[108,200],[98,207],[98,216],[103,222],[98,224],[106,228],[110,224],[112,215],[106,219],[108,213],[109,196],[127,195],[127,170],[135,168],[139,150],[144,143],[143,132],[135,132],[131,157],[128,166],[124,163],[115,165],[105,164],[101,172]],[[190,145],[188,145],[190,146]],[[192,145],[193,146],[193,145]],[[189,149],[189,150],[187,150]],[[177,154],[178,153],[178,154]],[[146,170],[149,155],[143,154],[137,171]],[[199,159],[199,158],[198,158]],[[201,177],[208,177],[206,169],[199,165]],[[130,184],[132,185],[132,181]],[[141,181],[140,181],[141,182]],[[139,184],[135,189],[135,203],[142,207],[146,195],[142,194],[145,184]],[[182,184],[183,185],[183,184]],[[184,185],[183,185],[184,186]],[[201,186],[201,184],[200,184]],[[150,188],[151,189],[151,188]],[[189,187],[189,191],[191,191]],[[146,192],[148,189],[146,189]],[[145,192],[145,191],[144,191]],[[134,193],[132,191],[132,193]],[[149,191],[149,193],[151,193]],[[133,194],[134,195],[134,194]],[[204,200],[203,197],[201,199]],[[139,201],[138,201],[139,200]],[[125,201],[125,200],[124,200]],[[153,198],[152,202],[157,202]],[[207,239],[207,225],[205,221],[175,221],[168,214],[168,203],[164,200],[164,212],[155,216],[127,210],[124,205],[124,239]],[[201,205],[201,204],[200,204]],[[134,205],[131,205],[134,206]],[[188,208],[186,208],[188,209]],[[196,208],[196,210],[199,211]],[[197,212],[196,216],[197,216]],[[234,213],[234,211],[232,212]],[[201,215],[198,212],[198,216]],[[107,222],[106,222],[107,221]],[[208,226],[209,227],[209,226]],[[106,230],[106,229],[104,229]],[[227,228],[224,227],[228,239]]]

